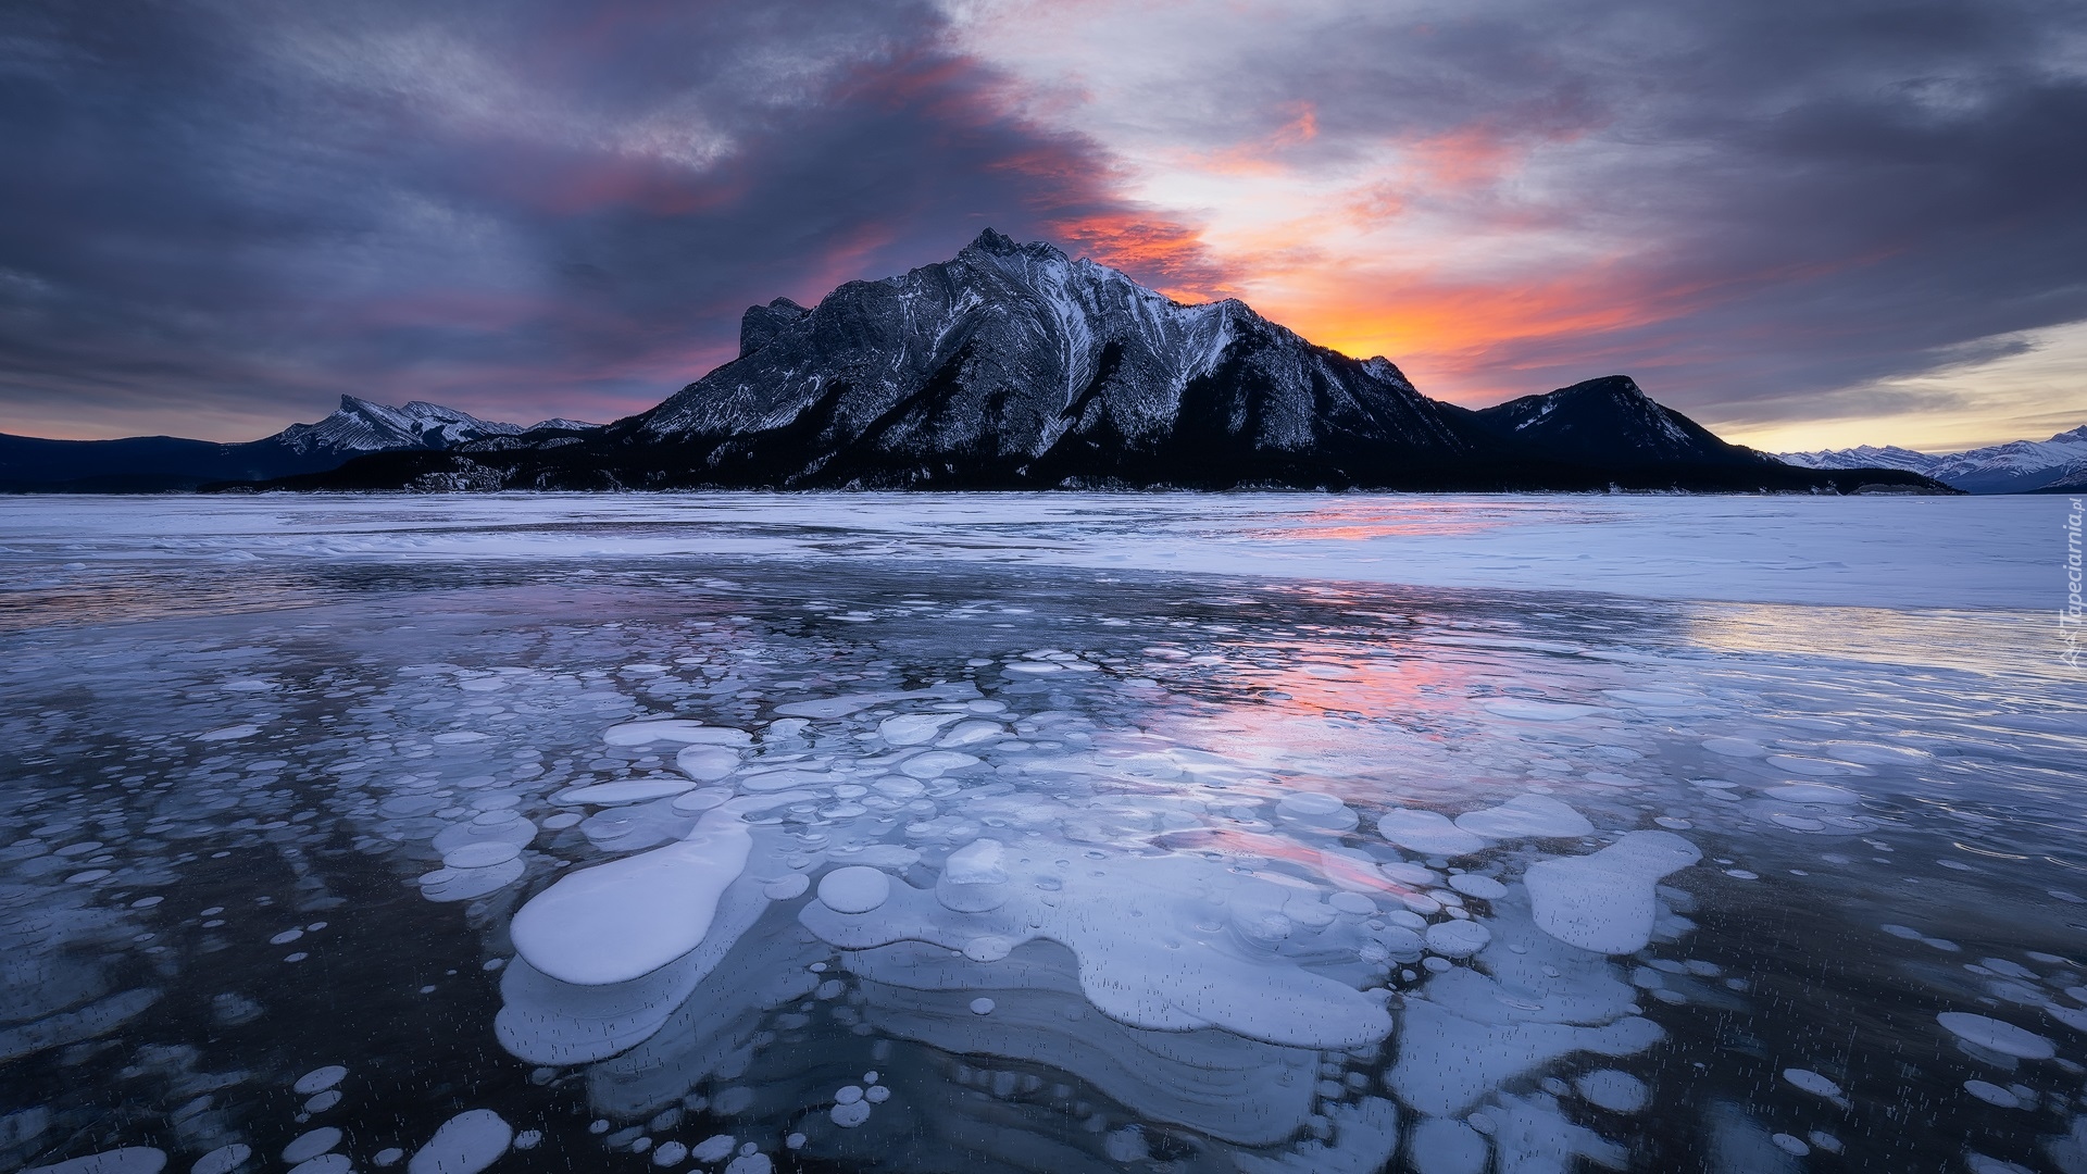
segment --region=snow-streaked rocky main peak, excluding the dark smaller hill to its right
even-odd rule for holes
[[[747,311],[741,357],[637,416],[726,485],[1354,483],[1473,451],[1386,359],[1181,305],[987,230],[952,261]]]

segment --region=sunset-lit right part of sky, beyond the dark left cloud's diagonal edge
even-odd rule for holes
[[[1981,397],[1966,347],[2087,318],[2079,4],[987,2],[962,29],[1039,123],[1140,161],[1123,192],[1198,209],[1248,301],[1438,395],[1628,370],[1743,432],[1882,437]],[[1893,382],[1924,370],[1968,382]],[[1995,409],[1956,437],[2026,426]]]

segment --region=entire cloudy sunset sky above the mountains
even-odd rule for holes
[[[611,420],[1050,240],[1486,405],[2087,422],[2077,0],[15,0],[0,432]]]

